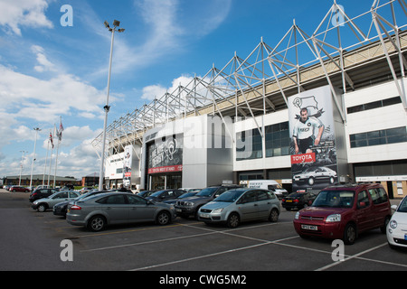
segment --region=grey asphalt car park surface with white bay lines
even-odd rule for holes
[[[277,223],[234,229],[177,218],[165,227],[133,224],[93,233],[51,210],[32,210],[28,195],[0,189],[0,271],[159,271],[163,277],[168,272],[407,271],[407,250],[388,247],[379,229],[345,246],[345,260],[334,261],[332,240],[298,237],[292,225],[296,211],[281,210]],[[62,261],[63,240],[71,241],[71,261]]]

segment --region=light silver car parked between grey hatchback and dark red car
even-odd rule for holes
[[[198,219],[205,223],[224,222],[236,228],[242,221],[279,219],[279,199],[267,190],[240,188],[223,192],[208,202],[198,212]]]

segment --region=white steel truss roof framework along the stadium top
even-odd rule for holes
[[[289,96],[321,85],[329,85],[345,123],[338,89],[345,94],[364,86],[366,81],[391,75],[407,111],[402,81],[407,69],[406,26],[404,0],[384,4],[374,0],[369,11],[353,18],[334,1],[313,33],[306,33],[294,20],[274,48],[261,38],[245,59],[235,52],[221,70],[213,65],[203,77],[194,76],[187,85],[180,84],[174,91],[113,121],[107,129],[109,150],[105,159],[123,151],[127,144],[141,145],[148,129],[182,117],[217,115],[223,121],[224,117],[253,117],[264,140],[257,116],[285,109]],[[381,66],[375,74],[362,70],[365,65]],[[228,133],[234,140],[235,135]],[[92,141],[99,157],[101,141],[102,134]]]

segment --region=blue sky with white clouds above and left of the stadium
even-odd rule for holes
[[[236,51],[246,58],[260,42],[276,45],[293,19],[312,34],[333,1],[323,0],[0,0],[0,178],[43,173],[53,126],[64,131],[58,175],[99,173],[90,142],[103,126],[110,33],[118,19],[109,124],[180,81],[222,68]],[[338,0],[351,17],[373,0]],[[71,5],[73,26],[62,26]],[[55,153],[55,151],[54,151]],[[52,161],[52,173],[53,164]],[[48,170],[48,169],[47,169]]]

